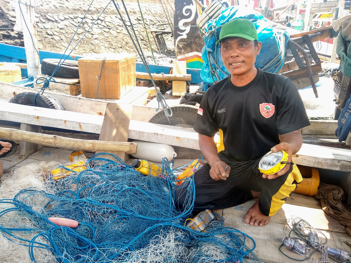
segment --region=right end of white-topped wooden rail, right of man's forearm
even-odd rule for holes
[[[351,150],[303,143],[301,149],[292,157],[299,165],[316,168],[351,171]]]

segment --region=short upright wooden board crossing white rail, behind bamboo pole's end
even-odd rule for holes
[[[128,140],[128,130],[131,114],[132,105],[107,103],[106,113],[104,122],[102,123],[99,140],[126,142]],[[96,151],[96,153],[101,152],[115,154],[120,157],[122,161],[126,161],[127,156],[125,151]],[[105,155],[104,157],[109,158],[111,156]]]

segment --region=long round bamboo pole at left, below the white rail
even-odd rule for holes
[[[90,152],[106,150],[125,151],[126,153],[130,154],[137,153],[137,144],[133,142],[81,140],[2,127],[0,127],[0,137],[14,141],[22,140],[31,143],[38,143],[45,146],[57,147],[66,150],[83,150]]]

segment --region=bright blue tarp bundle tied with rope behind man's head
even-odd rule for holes
[[[216,19],[206,22],[205,46],[202,49],[204,65],[201,69],[201,79],[204,81],[214,82],[229,76],[219,52],[220,43],[216,45],[216,41],[219,39],[221,26],[236,18],[251,20],[257,29],[258,41],[262,42],[262,48],[255,66],[272,73],[279,73],[282,69],[289,33],[272,28],[270,22],[253,9],[232,6],[224,9]]]

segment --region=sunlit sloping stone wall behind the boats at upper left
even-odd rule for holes
[[[88,28],[92,26],[93,21],[98,18],[107,3],[108,1],[95,0],[82,21],[90,1],[40,0],[39,5],[35,8],[39,49],[63,52],[71,41],[79,23],[82,21],[68,48],[71,50],[83,37]],[[131,24],[127,19],[126,12],[122,12],[122,10],[124,11],[122,3],[118,2],[118,4],[122,18],[126,21],[127,26],[130,27]],[[148,61],[150,61],[151,49],[141,19],[138,3],[126,2],[125,5],[143,52],[145,52],[145,55],[149,58]],[[154,30],[171,31],[160,4],[140,3],[140,6],[155,56],[157,58],[174,56],[173,35],[156,36],[154,33],[151,33]],[[9,2],[7,0],[0,0],[0,7],[0,42],[23,46],[22,33],[14,32],[11,29],[14,26],[16,18],[14,12],[11,11]],[[171,15],[173,17],[173,13]],[[1,29],[1,27],[4,29]],[[74,54],[102,52],[135,53],[133,43],[112,2],[73,51]]]

